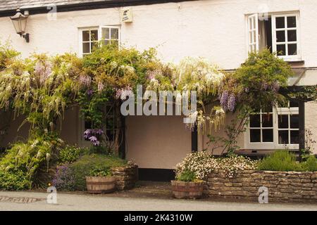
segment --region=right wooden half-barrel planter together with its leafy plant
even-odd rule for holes
[[[175,198],[201,198],[205,181],[197,179],[194,172],[185,169],[171,181]]]

